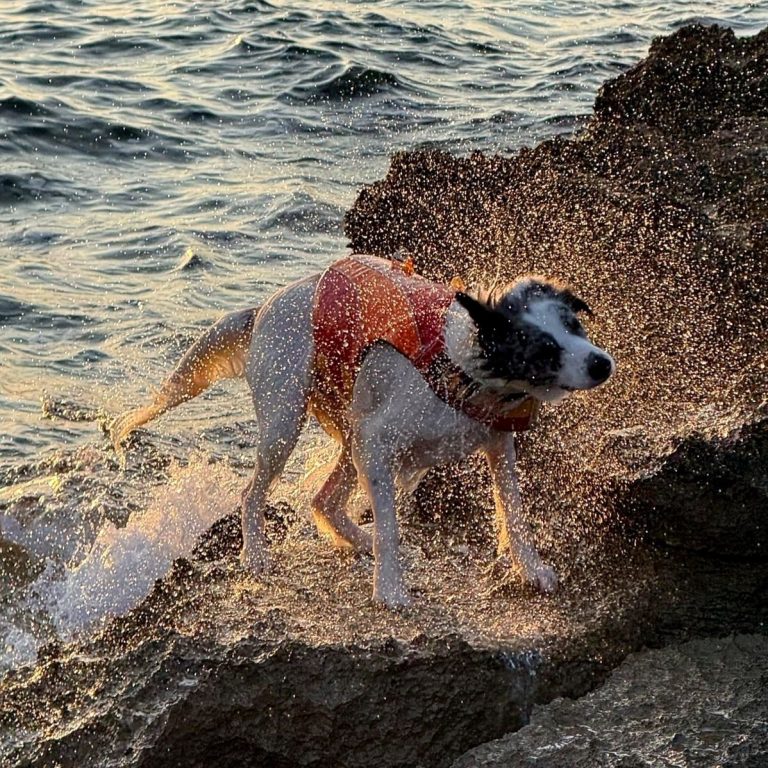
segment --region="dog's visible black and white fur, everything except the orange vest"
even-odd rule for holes
[[[242,564],[253,574],[267,565],[264,507],[312,408],[312,312],[319,275],[293,283],[254,310],[227,315],[187,352],[154,401],[116,420],[120,449],[137,426],[218,379],[245,375],[257,422],[253,478],[243,492]],[[613,359],[592,344],[577,314],[588,311],[570,291],[539,278],[473,298],[458,293],[448,310],[446,352],[500,406],[524,394],[557,401],[591,389],[613,372]],[[339,423],[341,414],[336,414]],[[373,598],[405,606],[409,595],[399,555],[395,500],[398,487],[415,487],[433,466],[482,451],[491,470],[498,519],[499,554],[512,556],[523,580],[542,592],[557,584],[543,563],[521,516],[515,475],[514,435],[471,419],[438,398],[402,354],[385,344],[366,355],[354,384],[340,436],[341,453],[313,500],[318,527],[336,545],[373,552]],[[345,507],[357,483],[374,514],[373,535],[355,524]]]

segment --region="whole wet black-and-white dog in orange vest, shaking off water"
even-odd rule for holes
[[[615,363],[580,322],[591,314],[571,290],[539,277],[471,295],[413,274],[409,263],[352,255],[292,283],[263,306],[226,315],[187,351],[148,406],[111,428],[121,444],[136,427],[202,392],[244,376],[256,412],[256,468],[242,497],[240,560],[268,562],[264,507],[308,413],[341,453],[312,502],[337,546],[373,553],[373,599],[407,606],[395,501],[433,466],[482,451],[494,486],[498,551],[524,582],[552,592],[521,516],[515,432],[540,402],[604,383]],[[345,506],[360,483],[372,535]]]

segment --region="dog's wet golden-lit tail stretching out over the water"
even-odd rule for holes
[[[115,451],[134,429],[171,408],[197,397],[214,382],[245,375],[253,321],[259,308],[225,315],[187,350],[149,405],[118,416],[109,430]]]

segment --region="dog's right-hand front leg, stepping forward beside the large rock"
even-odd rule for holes
[[[486,446],[486,457],[493,479],[493,496],[499,526],[499,555],[509,551],[517,560],[523,579],[540,592],[553,592],[557,586],[554,569],[541,561],[533,542],[533,532],[522,517],[520,489],[515,473],[515,438],[499,433]]]

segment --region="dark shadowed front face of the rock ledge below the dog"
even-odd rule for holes
[[[466,743],[467,718],[500,731],[523,721],[525,664],[460,640],[267,653],[232,649],[168,713],[161,749],[141,765],[242,765],[246,751],[251,765],[434,765]]]

